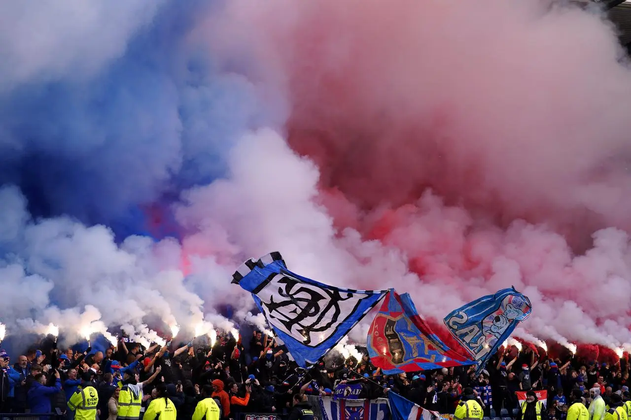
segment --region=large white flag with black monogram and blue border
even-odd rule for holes
[[[302,368],[317,363],[387,293],[307,279],[289,271],[278,252],[244,262],[232,283],[252,293],[274,334]]]

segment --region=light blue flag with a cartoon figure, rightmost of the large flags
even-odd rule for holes
[[[457,308],[444,322],[480,371],[531,309],[530,300],[515,288],[502,289]]]

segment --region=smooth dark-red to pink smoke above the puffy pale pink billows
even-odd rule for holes
[[[272,2],[257,18],[288,81],[291,146],[360,211],[431,188],[500,226],[524,218],[582,240],[628,227],[631,85],[615,35],[548,8]]]

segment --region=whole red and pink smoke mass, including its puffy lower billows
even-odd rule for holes
[[[599,16],[546,1],[231,8],[221,48],[268,62],[317,201],[340,235],[404,252],[421,281],[397,287],[423,315],[514,285],[537,337],[630,341],[628,235],[597,230],[631,228],[631,74]]]

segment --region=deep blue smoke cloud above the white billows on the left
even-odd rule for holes
[[[174,235],[171,228],[150,230],[145,206],[168,209],[181,190],[222,177],[240,134],[278,119],[278,108],[262,103],[251,82],[256,68],[242,64],[251,61],[227,64],[187,36],[198,16],[221,4],[160,4],[127,31],[120,56],[92,57],[110,50],[103,48],[107,33],[93,49],[82,44],[90,52],[85,61],[101,63],[99,69],[74,59],[63,73],[49,58],[29,78],[0,86],[0,185],[17,185],[33,216],[105,224],[119,240]],[[8,58],[0,53],[0,62]],[[174,225],[168,210],[162,217]]]

